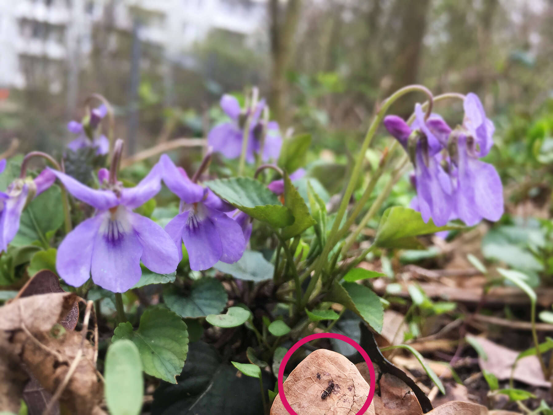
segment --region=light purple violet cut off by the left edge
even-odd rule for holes
[[[6,169],[6,160],[0,160],[0,173]],[[6,251],[19,230],[19,220],[25,205],[54,183],[56,177],[43,170],[35,179],[15,179],[6,192],[0,192],[0,251]]]

